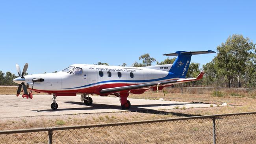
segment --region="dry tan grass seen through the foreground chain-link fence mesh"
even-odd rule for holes
[[[216,119],[217,143],[254,143],[256,115],[225,116]],[[107,119],[107,118],[106,118]],[[2,137],[5,137],[2,136]],[[13,142],[47,143],[47,132],[9,135]],[[8,138],[6,136],[6,138]],[[126,126],[93,127],[53,132],[54,143],[212,143],[212,119],[178,120]],[[0,142],[5,143],[4,139]],[[9,142],[9,141],[8,141]],[[29,142],[28,142],[29,143]]]

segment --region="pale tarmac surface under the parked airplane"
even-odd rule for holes
[[[33,99],[22,98],[20,95],[0,95],[0,118],[25,117],[25,116],[51,116],[65,114],[84,114],[84,113],[106,113],[120,111],[147,111],[159,109],[174,109],[176,105],[180,108],[210,107],[205,103],[187,103],[160,100],[142,100],[129,98],[131,107],[129,110],[122,110],[119,98],[90,96],[93,104],[84,105],[78,96],[60,96],[56,98],[58,109],[52,110],[52,95],[33,95]],[[217,105],[213,105],[216,107]]]

